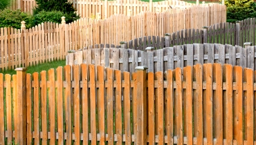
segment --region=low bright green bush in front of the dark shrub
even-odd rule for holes
[[[71,23],[72,21],[75,21],[79,19],[80,17],[73,17],[72,14],[64,14],[63,12],[60,11],[51,11],[51,12],[46,12],[42,11],[39,12],[38,14],[34,15],[34,23],[35,25],[38,25],[39,23],[44,23],[45,21],[51,21],[55,23],[61,23],[62,19],[61,17],[64,16],[66,19],[66,23]]]

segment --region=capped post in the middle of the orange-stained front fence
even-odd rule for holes
[[[137,144],[147,144],[147,66],[137,66]]]

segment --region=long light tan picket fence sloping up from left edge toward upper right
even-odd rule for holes
[[[201,6],[185,10],[193,10],[193,8],[199,10]],[[199,17],[196,14],[201,13],[190,14],[190,16]],[[216,17],[217,15],[214,14]],[[176,16],[183,17],[183,19]],[[78,50],[96,43],[117,45],[120,41],[129,41],[136,37],[161,36],[176,29],[205,25],[205,23],[195,25],[196,22],[181,25],[185,19],[190,21],[190,18],[192,17],[183,15],[183,10],[174,9],[162,13],[142,12],[132,17],[119,14],[104,20],[86,18],[63,25],[48,22],[29,30],[0,28],[0,68],[13,69],[64,59],[68,50]],[[174,19],[177,20],[176,23],[169,23]]]

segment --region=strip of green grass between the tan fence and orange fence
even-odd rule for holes
[[[26,72],[33,74],[33,72],[42,72],[42,70],[49,70],[51,68],[57,68],[58,66],[65,66],[66,61],[52,61],[52,62],[46,62],[44,64],[39,64],[37,66],[28,66]],[[16,75],[15,70],[3,70],[0,71],[0,73],[5,74],[10,74],[10,75]]]

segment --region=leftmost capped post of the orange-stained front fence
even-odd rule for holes
[[[16,68],[15,143],[27,143],[26,68]],[[14,84],[15,85],[15,84]]]

